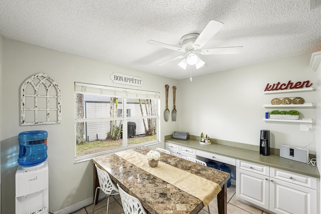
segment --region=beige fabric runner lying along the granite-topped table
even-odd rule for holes
[[[115,154],[148,173],[199,198],[205,206],[221,191],[219,184],[161,161],[158,161],[156,167],[150,167],[146,156],[133,150],[125,150]]]

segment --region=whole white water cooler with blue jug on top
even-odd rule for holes
[[[16,172],[16,214],[49,213],[47,131],[18,135],[20,153]]]

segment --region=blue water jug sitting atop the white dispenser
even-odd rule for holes
[[[47,131],[25,131],[18,135],[19,157],[22,166],[35,166],[47,159]]]

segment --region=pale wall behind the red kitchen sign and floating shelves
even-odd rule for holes
[[[263,108],[263,104],[270,103],[273,98],[302,97],[307,103],[315,102],[315,91],[263,94],[267,83],[287,83],[289,80],[309,80],[313,83],[312,87],[316,87],[315,73],[308,68],[310,56],[194,77],[193,82],[189,79],[180,81],[176,105],[180,131],[192,135],[204,132],[212,138],[259,145],[260,130],[268,129],[271,147],[292,145],[315,154],[315,123],[313,132],[302,132],[299,131],[299,123],[263,121],[265,111],[274,110]],[[315,119],[315,108],[294,110],[298,110],[304,118]]]

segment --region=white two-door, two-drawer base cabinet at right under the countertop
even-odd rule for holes
[[[236,196],[275,213],[314,214],[317,178],[236,160]]]

